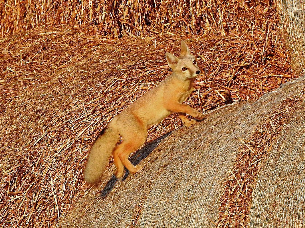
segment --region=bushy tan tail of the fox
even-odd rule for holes
[[[119,139],[118,130],[111,125],[107,125],[97,136],[91,146],[84,170],[84,178],[88,184],[100,182],[109,157]]]

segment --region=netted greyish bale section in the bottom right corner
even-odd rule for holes
[[[303,102],[264,162],[253,191],[249,227],[305,226],[304,114]]]

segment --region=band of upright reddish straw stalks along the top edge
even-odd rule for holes
[[[269,0],[7,0],[0,4],[2,36],[61,24],[72,30],[89,28],[95,34],[115,37],[156,36],[160,33],[221,33],[226,36],[245,31],[265,36],[268,29],[273,30],[273,26],[266,27],[266,24],[276,23],[275,7]]]

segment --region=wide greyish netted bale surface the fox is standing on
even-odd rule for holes
[[[226,183],[221,183],[228,174],[239,183],[231,193],[235,195],[236,189],[241,195],[247,194],[248,185],[239,182],[242,177],[234,169],[241,141],[250,142],[251,133],[261,126],[264,116],[269,118],[274,111],[281,111],[287,100],[304,92],[304,86],[305,76],[255,102],[222,107],[206,114],[198,125],[172,132],[157,142],[152,153],[155,145],[139,151],[134,163],[142,159],[137,157],[141,153],[151,153],[142,161],[141,172],[118,182],[112,176],[112,167],[103,178],[101,193],[99,188],[93,189],[61,219],[60,227],[215,227],[219,222],[219,197],[226,188]],[[286,120],[290,122],[291,118],[287,115]],[[268,154],[268,147],[264,153]],[[251,155],[255,158],[259,154]],[[218,223],[218,227],[222,225]],[[228,223],[225,226],[235,227]]]

